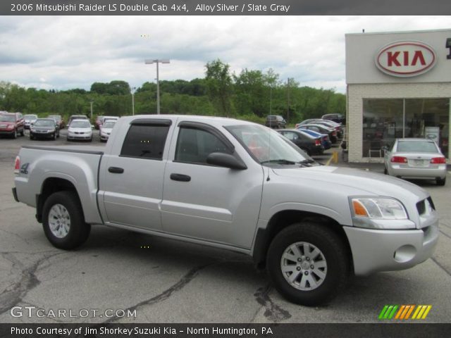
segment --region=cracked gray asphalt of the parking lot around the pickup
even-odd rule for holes
[[[445,187],[416,182],[440,213],[432,259],[409,270],[354,277],[328,305],[309,308],[281,298],[266,274],[239,253],[102,226],[93,227],[80,249],[55,249],[35,209],[13,200],[13,161],[23,144],[69,144],[64,135],[56,141],[0,139],[0,323],[380,323],[386,304],[431,305],[421,323],[450,323],[449,177]],[[101,144],[97,135],[92,144]],[[315,158],[326,163],[330,154]],[[374,163],[338,165],[383,171]],[[25,307],[42,311],[28,315]],[[51,315],[61,310],[66,317]]]

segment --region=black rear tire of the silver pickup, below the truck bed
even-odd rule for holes
[[[62,206],[62,208],[58,208],[58,206]],[[68,218],[65,219],[66,222],[69,221],[68,232],[63,234],[62,237],[56,236],[49,224],[49,221],[51,221],[49,220],[49,214],[51,215],[51,211],[54,214],[53,211],[55,209],[62,210],[63,214],[68,215]],[[59,249],[75,249],[87,240],[89,232],[91,232],[91,225],[85,223],[80,199],[78,199],[78,195],[75,192],[63,191],[51,194],[44,203],[42,220],[42,227],[44,227],[47,239]],[[63,222],[63,218],[52,218],[52,220]]]

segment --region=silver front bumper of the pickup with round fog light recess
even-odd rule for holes
[[[431,258],[439,235],[438,220],[414,230],[343,229],[350,242],[355,275],[412,268]]]

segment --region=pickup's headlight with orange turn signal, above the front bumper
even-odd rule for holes
[[[354,197],[350,199],[355,227],[371,229],[414,229],[400,201],[389,197]]]

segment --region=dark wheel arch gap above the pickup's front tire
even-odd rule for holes
[[[266,228],[259,227],[257,229],[257,234],[254,240],[254,246],[252,248],[252,258],[255,265],[258,268],[266,267],[266,253],[268,251],[269,245],[274,237],[285,227],[288,227],[294,223],[299,223],[303,221],[309,221],[312,223],[319,223],[326,225],[330,230],[342,239],[345,244],[347,253],[350,259],[350,266],[353,270],[353,260],[350,242],[347,239],[345,230],[343,230],[342,225],[338,223],[333,218],[327,215],[321,215],[320,213],[312,213],[309,211],[298,211],[298,210],[285,210],[279,211],[274,214],[268,221]]]

